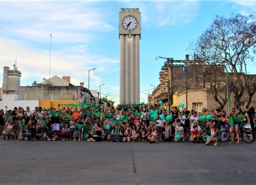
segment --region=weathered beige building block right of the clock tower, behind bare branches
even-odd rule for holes
[[[212,83],[210,74],[212,74],[212,69],[210,66],[205,65],[204,62],[201,62],[197,59],[188,60],[188,55],[186,56],[187,60],[173,60],[172,58],[166,58],[167,61],[164,62],[159,72],[159,81],[160,84],[157,85],[156,89],[152,92],[151,97],[149,98],[149,106],[159,107],[159,101],[163,102],[163,106],[168,110],[168,81],[170,81],[170,105],[171,110],[173,106],[178,106],[180,103],[184,104],[186,107],[186,79],[187,79],[187,98],[188,98],[188,110],[191,110],[192,107],[198,112],[202,111],[203,107],[210,108],[213,107],[215,103],[215,108],[218,107],[218,103],[215,102],[212,93],[209,91],[209,86]],[[187,65],[187,72],[184,71],[184,65]],[[187,73],[187,78],[186,78]],[[226,73],[224,72],[223,66],[217,67],[218,73],[218,82],[215,84],[218,89],[219,98],[224,96],[227,92],[226,89]],[[229,76],[231,76],[229,74]],[[251,75],[255,77],[255,75]],[[217,78],[217,77],[216,77]],[[245,84],[245,82],[243,81]],[[252,97],[251,106],[256,105],[256,95]],[[230,94],[230,107],[233,107],[233,102],[235,101],[234,93]],[[244,96],[240,99],[240,107],[244,107],[244,102],[248,101],[248,96],[246,90],[244,90]],[[228,110],[228,103],[224,107],[225,110]]]

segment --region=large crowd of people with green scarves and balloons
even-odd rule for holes
[[[110,107],[91,104],[63,104],[57,108],[7,107],[0,111],[0,138],[28,141],[73,140],[88,142],[184,142],[217,145],[221,126],[235,130],[239,144],[238,127],[249,120],[255,133],[255,111],[252,106],[244,111],[232,108],[230,112],[204,107],[201,112],[184,107],[173,107],[171,116],[163,108],[152,110],[144,104]],[[243,113],[247,113],[246,117]],[[208,115],[211,115],[210,117]],[[205,120],[199,117],[204,116]],[[230,144],[235,143],[231,135]]]

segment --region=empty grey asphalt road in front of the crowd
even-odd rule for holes
[[[255,184],[256,142],[240,143],[1,138],[0,184]]]

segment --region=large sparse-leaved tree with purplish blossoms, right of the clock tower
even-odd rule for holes
[[[190,42],[188,49],[206,64],[221,65],[229,71],[228,85],[229,91],[234,93],[234,104],[240,104],[242,96],[248,98],[248,104],[252,102],[256,78],[255,75],[247,73],[246,65],[248,62],[252,63],[255,58],[256,19],[253,15],[232,14],[228,19],[216,16],[196,42]],[[215,80],[212,82],[216,83]],[[218,88],[214,89],[215,85],[212,84],[213,87],[210,89],[214,100],[224,107],[227,95],[220,98]]]

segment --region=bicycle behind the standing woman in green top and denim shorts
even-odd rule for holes
[[[239,127],[238,133],[239,133],[239,137],[245,142],[245,143],[253,143],[255,141],[255,133],[252,132],[251,130],[244,130],[244,125],[246,124],[241,124],[243,125],[243,127]],[[226,130],[221,131],[220,135],[221,135],[221,139],[219,139],[220,142],[226,142],[230,139],[231,135],[229,132],[229,127],[230,125],[228,125]],[[236,138],[236,131],[235,129],[233,130],[233,134],[234,134],[234,141],[237,140]]]

